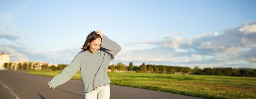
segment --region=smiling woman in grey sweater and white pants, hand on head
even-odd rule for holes
[[[109,99],[111,81],[107,70],[110,61],[121,50],[121,46],[100,31],[93,31],[81,49],[71,64],[48,82],[49,88],[54,89],[64,84],[81,70],[85,99]]]

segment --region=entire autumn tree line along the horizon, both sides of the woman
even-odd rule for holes
[[[67,64],[58,64],[58,66],[48,66],[48,64],[43,64],[38,66],[36,63],[19,63],[17,69],[25,70],[63,70],[67,67]],[[12,69],[14,68],[13,63],[4,63],[5,68]],[[249,68],[199,68],[195,66],[193,69],[189,67],[181,66],[164,66],[164,65],[152,65],[145,63],[140,66],[133,66],[133,63],[130,62],[129,66],[122,64],[112,64],[108,67],[112,72],[123,71],[123,72],[136,72],[136,73],[168,73],[168,74],[191,74],[191,75],[220,75],[220,76],[243,76],[243,77],[256,77],[256,69]]]

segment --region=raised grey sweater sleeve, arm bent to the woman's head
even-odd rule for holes
[[[101,47],[105,48],[108,53],[111,54],[112,59],[121,50],[121,46],[117,42],[110,40],[107,36],[103,35]]]

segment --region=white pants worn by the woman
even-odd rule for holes
[[[84,94],[84,99],[110,99],[110,86],[101,86],[95,88],[92,92]]]

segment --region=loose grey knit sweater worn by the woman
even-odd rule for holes
[[[70,80],[75,73],[81,70],[84,92],[91,92],[97,87],[108,85],[111,83],[107,74],[109,63],[120,50],[119,44],[103,35],[101,48],[97,52],[79,52],[71,64],[49,81],[49,84],[54,89]]]

